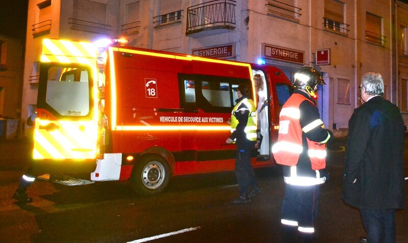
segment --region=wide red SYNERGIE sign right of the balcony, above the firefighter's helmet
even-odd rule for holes
[[[292,50],[283,47],[263,44],[265,58],[291,62],[291,63],[304,63],[304,51]]]

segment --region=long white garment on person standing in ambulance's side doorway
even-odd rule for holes
[[[260,129],[261,135],[263,136],[261,147],[258,151],[261,155],[269,155],[269,125],[268,125],[268,106],[265,106],[261,111],[262,105],[266,100],[266,93],[262,90],[258,92],[259,100],[257,106],[258,113],[258,127]]]

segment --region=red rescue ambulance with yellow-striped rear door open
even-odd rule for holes
[[[97,55],[98,53],[98,55]],[[91,173],[92,181],[130,180],[143,195],[172,176],[234,170],[226,145],[240,83],[264,79],[262,143],[254,168],[275,165],[282,105],[291,82],[279,69],[111,44],[44,39],[33,164],[37,172]],[[257,151],[258,149],[258,151]]]

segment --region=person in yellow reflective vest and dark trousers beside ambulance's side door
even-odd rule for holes
[[[248,203],[250,198],[262,192],[251,166],[251,152],[257,142],[257,109],[249,98],[250,89],[247,84],[238,86],[238,99],[231,115],[231,136],[227,144],[236,141],[235,175],[239,185],[240,196],[234,204]],[[249,187],[252,188],[249,191]]]

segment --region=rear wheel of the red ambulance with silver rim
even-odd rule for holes
[[[170,179],[167,161],[159,155],[147,155],[133,167],[131,185],[140,195],[157,195],[166,188]]]

